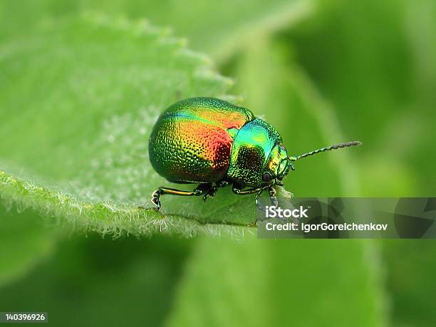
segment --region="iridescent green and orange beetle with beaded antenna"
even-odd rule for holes
[[[276,129],[249,109],[217,98],[188,98],[171,105],[157,119],[149,139],[149,157],[155,171],[169,182],[198,184],[192,191],[159,187],[152,193],[155,209],[165,194],[213,197],[232,185],[234,194],[268,190],[277,205],[275,185],[283,186],[292,162],[319,152],[360,145],[358,141],[289,157]],[[259,207],[260,209],[260,207]]]

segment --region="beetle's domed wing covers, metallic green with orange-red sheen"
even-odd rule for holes
[[[170,182],[217,182],[227,176],[233,137],[254,120],[250,110],[215,98],[190,98],[157,119],[149,156]]]

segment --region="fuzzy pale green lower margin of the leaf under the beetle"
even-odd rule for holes
[[[249,230],[237,224],[202,224],[194,219],[110,201],[85,202],[61,190],[40,187],[3,171],[0,171],[0,198],[6,207],[15,206],[19,210],[31,208],[43,216],[64,217],[79,232],[93,231],[113,237],[123,234],[140,237],[154,233],[183,237],[196,234],[219,237],[227,234],[234,239],[242,239],[244,232]]]

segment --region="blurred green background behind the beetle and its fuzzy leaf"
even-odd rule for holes
[[[364,143],[299,163],[286,179],[299,196],[436,195],[435,1],[1,0],[0,58],[41,21],[88,10],[185,36],[295,154]],[[0,214],[0,311],[58,326],[436,324],[432,240],[113,240]]]

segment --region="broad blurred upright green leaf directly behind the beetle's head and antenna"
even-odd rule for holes
[[[258,40],[233,64],[247,106],[265,110],[295,153],[343,140],[333,109],[289,65],[283,49],[280,41]],[[353,194],[352,162],[346,151],[298,162],[286,189],[298,196]],[[256,240],[253,234],[241,243],[202,238],[187,261],[167,325],[383,326],[387,299],[377,253],[373,240],[344,245]]]

